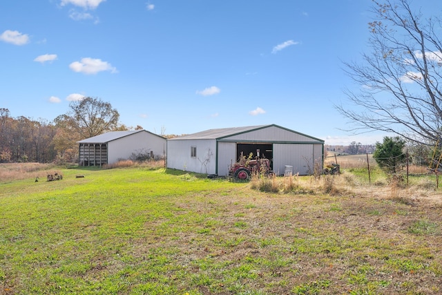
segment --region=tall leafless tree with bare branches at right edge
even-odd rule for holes
[[[418,3],[418,1],[415,1]],[[338,111],[347,131],[385,131],[423,144],[441,142],[441,20],[423,17],[409,0],[373,1],[372,52],[363,62],[344,62],[359,91],[346,90]]]

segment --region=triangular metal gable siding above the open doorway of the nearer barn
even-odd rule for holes
[[[256,141],[256,142],[318,142],[311,137],[287,131],[285,129],[278,128],[276,126],[270,126],[268,128],[259,129],[256,131],[250,131],[234,135],[231,137],[225,137],[222,140],[236,140],[241,141]]]

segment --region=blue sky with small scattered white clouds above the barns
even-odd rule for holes
[[[326,144],[372,144],[383,135],[341,131],[347,120],[334,108],[354,87],[343,61],[369,50],[371,6],[1,1],[0,108],[52,121],[90,96],[110,102],[122,124],[155,133],[278,124]]]

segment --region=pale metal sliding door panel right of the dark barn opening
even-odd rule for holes
[[[313,171],[313,144],[273,144],[273,171],[285,172],[285,166],[293,166],[293,174],[307,175]]]

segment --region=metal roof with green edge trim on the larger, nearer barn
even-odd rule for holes
[[[206,131],[201,131],[198,133],[193,133],[193,134],[189,134],[189,135],[183,135],[183,136],[179,136],[179,137],[174,137],[171,138],[170,140],[220,140],[224,137],[229,137],[229,136],[233,136],[233,135],[238,135],[241,133],[247,133],[250,131],[255,131],[255,130],[259,130],[259,129],[265,129],[268,127],[278,127],[280,129],[285,129],[287,131],[291,131],[294,133],[298,133],[296,131],[293,130],[289,130],[287,128],[283,128],[281,126],[275,125],[275,124],[269,124],[269,125],[258,125],[258,126],[244,126],[244,127],[231,127],[231,128],[222,128],[222,129],[209,129]],[[302,133],[298,133],[298,134],[302,134]],[[305,135],[305,134],[302,134]],[[318,138],[315,137],[311,137],[309,135],[305,135],[307,137],[310,137],[311,139],[314,140],[318,140],[320,142],[324,142],[323,140],[320,140]]]

